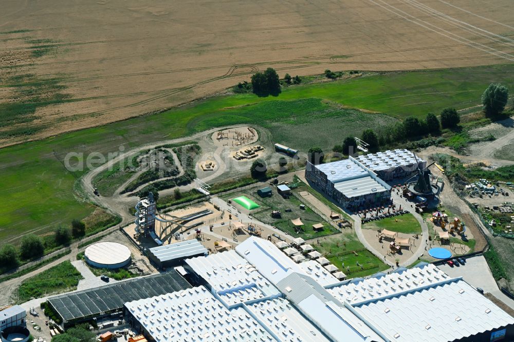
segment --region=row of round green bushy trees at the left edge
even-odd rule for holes
[[[0,248],[0,269],[10,270],[20,264],[20,260],[31,260],[43,256],[45,245],[67,245],[72,238],[80,238],[86,233],[86,225],[79,220],[71,221],[71,228],[59,226],[53,234],[53,241],[43,241],[40,236],[29,234],[22,238],[19,248],[7,243]]]

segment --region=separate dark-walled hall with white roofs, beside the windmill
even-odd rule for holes
[[[416,162],[412,152],[395,149],[326,164],[307,162],[305,178],[340,205],[358,208],[389,204],[391,186],[386,181],[407,177],[426,165],[421,159]]]

